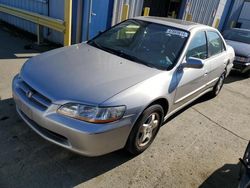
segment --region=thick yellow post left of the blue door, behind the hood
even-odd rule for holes
[[[64,0],[64,46],[71,45],[72,0]]]

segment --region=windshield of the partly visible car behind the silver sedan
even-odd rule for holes
[[[250,44],[250,31],[231,29],[224,31],[223,36],[227,40]]]

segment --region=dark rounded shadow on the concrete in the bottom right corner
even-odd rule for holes
[[[239,183],[240,164],[225,164],[211,174],[200,188],[237,188]]]

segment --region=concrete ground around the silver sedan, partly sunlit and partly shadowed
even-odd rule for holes
[[[0,187],[237,187],[250,139],[250,79],[232,74],[221,94],[170,119],[143,154],[87,158],[47,142],[17,115],[11,80],[35,51],[0,29]]]

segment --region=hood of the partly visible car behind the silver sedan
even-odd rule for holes
[[[250,56],[250,44],[232,40],[226,40],[226,43],[233,47],[236,55],[245,57]]]

